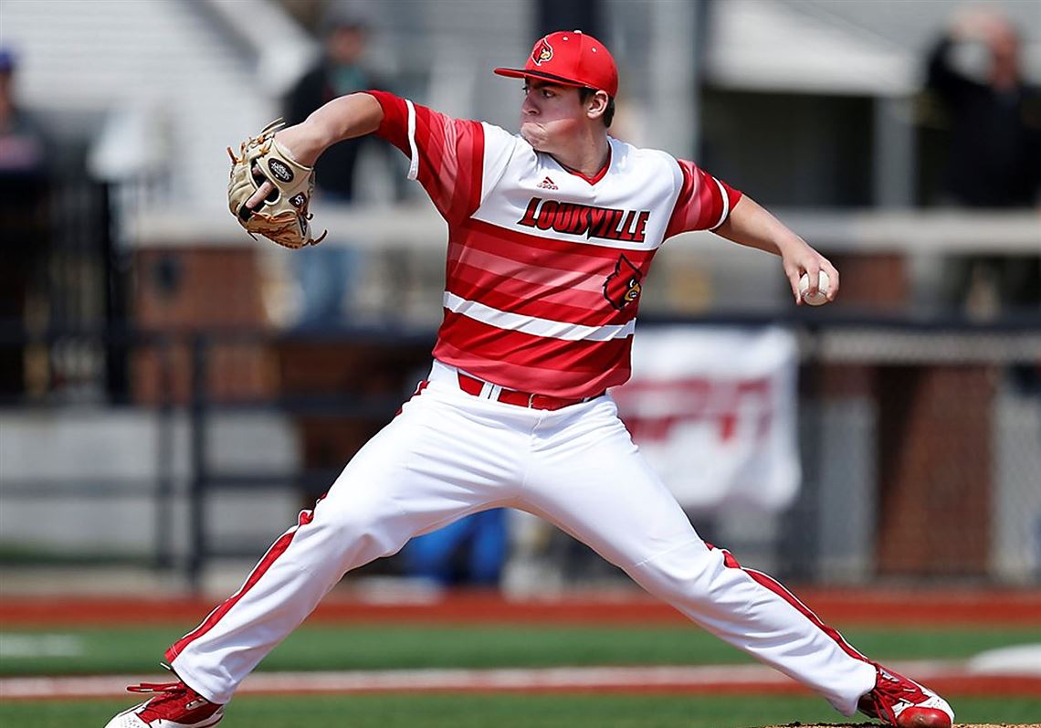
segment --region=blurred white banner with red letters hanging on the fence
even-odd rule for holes
[[[797,348],[786,329],[642,329],[611,391],[633,440],[685,508],[789,505],[802,473]]]

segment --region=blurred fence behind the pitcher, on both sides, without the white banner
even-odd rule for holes
[[[786,579],[1037,583],[1041,331],[862,318],[788,325],[801,356],[798,496],[777,513],[692,513],[702,535]],[[404,329],[125,332],[113,347],[101,333],[77,336],[82,351],[159,357],[163,375],[132,387],[130,407],[35,400],[0,409],[5,564],[151,564],[197,580],[212,559],[261,553],[393,416],[429,365],[431,338]],[[7,335],[3,346],[68,341]],[[280,385],[223,386],[236,370],[222,356],[236,349],[278,372]],[[178,350],[183,361],[171,356]],[[320,371],[339,376],[308,375]],[[513,535],[514,566],[527,566],[507,569],[511,579],[566,586],[616,576],[562,534],[518,522]]]

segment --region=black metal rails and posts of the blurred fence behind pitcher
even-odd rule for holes
[[[1017,367],[1037,375],[1041,366],[1041,320],[1033,316],[1006,317],[990,322],[965,320],[958,317],[930,320],[909,320],[907,318],[877,316],[864,317],[849,313],[824,315],[823,311],[796,310],[785,317],[727,316],[727,317],[655,317],[641,320],[641,328],[659,325],[683,324],[690,326],[737,326],[761,327],[766,325],[787,326],[795,330],[802,342],[804,356],[804,377],[801,397],[804,400],[819,400],[826,396],[820,390],[819,371],[835,362],[881,363],[907,362],[913,367],[929,368],[935,363],[935,352],[929,353],[930,341],[944,341],[943,361],[966,362],[991,366],[998,370]],[[871,338],[873,337],[873,340]],[[892,342],[891,350],[857,349],[858,342],[874,341],[875,346]],[[306,465],[290,472],[236,472],[221,473],[212,467],[208,452],[207,432],[214,416],[230,411],[273,411],[289,416],[329,416],[345,419],[365,419],[387,422],[407,397],[410,382],[400,382],[400,387],[391,392],[364,392],[349,388],[337,392],[294,393],[274,391],[261,396],[222,397],[214,393],[214,354],[222,347],[252,346],[272,348],[293,343],[320,344],[340,347],[365,347],[378,344],[385,347],[402,347],[409,350],[409,356],[416,366],[428,360],[425,352],[433,342],[433,332],[415,330],[406,326],[387,325],[367,328],[333,328],[320,335],[262,330],[182,330],[148,331],[131,327],[108,326],[98,329],[62,329],[52,327],[44,331],[29,331],[21,325],[0,326],[0,348],[26,349],[36,347],[50,350],[68,346],[70,343],[85,343],[84,351],[117,351],[132,356],[135,352],[157,352],[158,397],[147,402],[129,403],[133,406],[151,408],[157,417],[156,462],[154,483],[142,487],[139,481],[115,481],[110,479],[92,481],[83,478],[70,483],[29,479],[8,480],[4,476],[4,499],[52,499],[75,493],[77,496],[97,498],[150,498],[154,499],[154,542],[149,561],[157,569],[177,570],[184,575],[188,584],[198,585],[211,559],[222,556],[254,556],[259,553],[260,544],[221,544],[213,524],[210,523],[208,501],[221,492],[249,489],[274,489],[293,492],[315,492],[328,484],[335,476],[330,468],[309,468]],[[881,345],[878,343],[882,343]],[[919,347],[926,354],[924,358],[909,355],[908,347]],[[850,348],[852,347],[852,348]],[[73,347],[75,348],[75,347]],[[903,348],[903,349],[902,349]],[[178,357],[176,352],[187,351],[187,357]],[[912,352],[913,353],[913,352]],[[932,357],[932,358],[931,358]],[[187,362],[186,369],[184,362]],[[931,363],[933,361],[933,363]],[[942,361],[941,361],[942,363]],[[106,368],[96,368],[99,377]],[[187,378],[187,397],[179,393],[176,380]],[[1033,379],[1034,390],[1027,388],[1024,397],[1041,402],[1041,377]],[[1030,386],[1030,385],[1029,385]],[[103,387],[102,387],[103,388]],[[122,394],[101,397],[95,406],[122,407],[126,405]],[[2,403],[3,409],[46,410],[57,417],[66,408],[82,405],[79,396],[67,397],[60,382],[52,382],[45,393],[23,394],[8,397]],[[186,416],[188,429],[188,475],[186,478],[186,503],[188,538],[186,551],[178,553],[173,533],[173,512],[178,496],[177,477],[174,474],[174,420]],[[819,442],[821,421],[809,423],[804,428],[804,475],[805,487],[799,501],[793,506],[795,517],[786,527],[781,538],[781,549],[787,554],[782,573],[796,578],[812,579],[817,573],[820,544],[816,525],[820,521],[817,495],[824,486],[821,482],[820,462],[806,457],[806,453],[817,450],[813,442]],[[78,554],[82,556],[82,554]]]

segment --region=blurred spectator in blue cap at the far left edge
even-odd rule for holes
[[[46,203],[49,191],[47,142],[43,127],[15,100],[16,58],[0,48],[0,323],[25,324],[33,279],[44,274],[48,251]],[[37,286],[39,290],[39,286]],[[0,344],[0,396],[24,394],[22,347]]]

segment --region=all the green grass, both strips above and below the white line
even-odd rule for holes
[[[185,630],[169,627],[15,629],[7,641],[62,635],[79,654],[12,656],[0,674],[157,675],[162,649]],[[979,627],[934,630],[850,628],[856,647],[884,661],[966,658],[985,650],[1041,642],[1038,628]],[[610,626],[445,625],[304,626],[277,648],[261,670],[381,670],[593,664],[711,664],[746,662],[742,653],[684,625]],[[1036,723],[1037,699],[950,696],[959,722]],[[0,702],[0,726],[100,728],[126,700]],[[646,694],[420,694],[319,697],[242,696],[228,728],[750,728],[792,722],[838,723],[822,700],[789,696],[690,696]],[[856,719],[854,720],[856,722]]]

